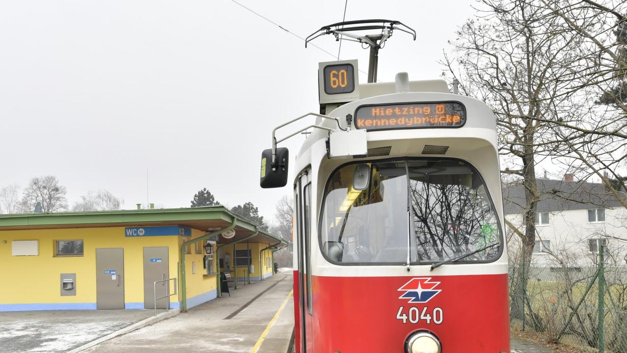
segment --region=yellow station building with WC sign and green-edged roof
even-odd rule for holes
[[[10,283],[0,312],[154,308],[175,292],[169,307],[186,310],[218,296],[221,271],[271,276],[272,251],[285,245],[222,206],[0,214],[0,278]]]

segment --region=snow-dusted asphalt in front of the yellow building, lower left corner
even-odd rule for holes
[[[66,352],[154,315],[154,310],[0,313],[2,352]]]

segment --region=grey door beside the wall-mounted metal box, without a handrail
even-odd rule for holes
[[[124,309],[124,249],[96,249],[96,307]]]

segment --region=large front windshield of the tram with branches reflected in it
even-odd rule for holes
[[[366,167],[367,166],[367,167]],[[483,179],[461,161],[349,164],[325,189],[322,251],[336,263],[490,261],[502,234]],[[359,169],[359,170],[357,170]],[[355,173],[369,173],[354,185]],[[365,186],[365,187],[364,187]]]

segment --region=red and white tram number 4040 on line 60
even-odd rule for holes
[[[320,63],[319,82],[290,183],[296,351],[509,352],[490,108],[404,73],[359,84],[356,60]],[[262,187],[287,182],[275,132]]]

